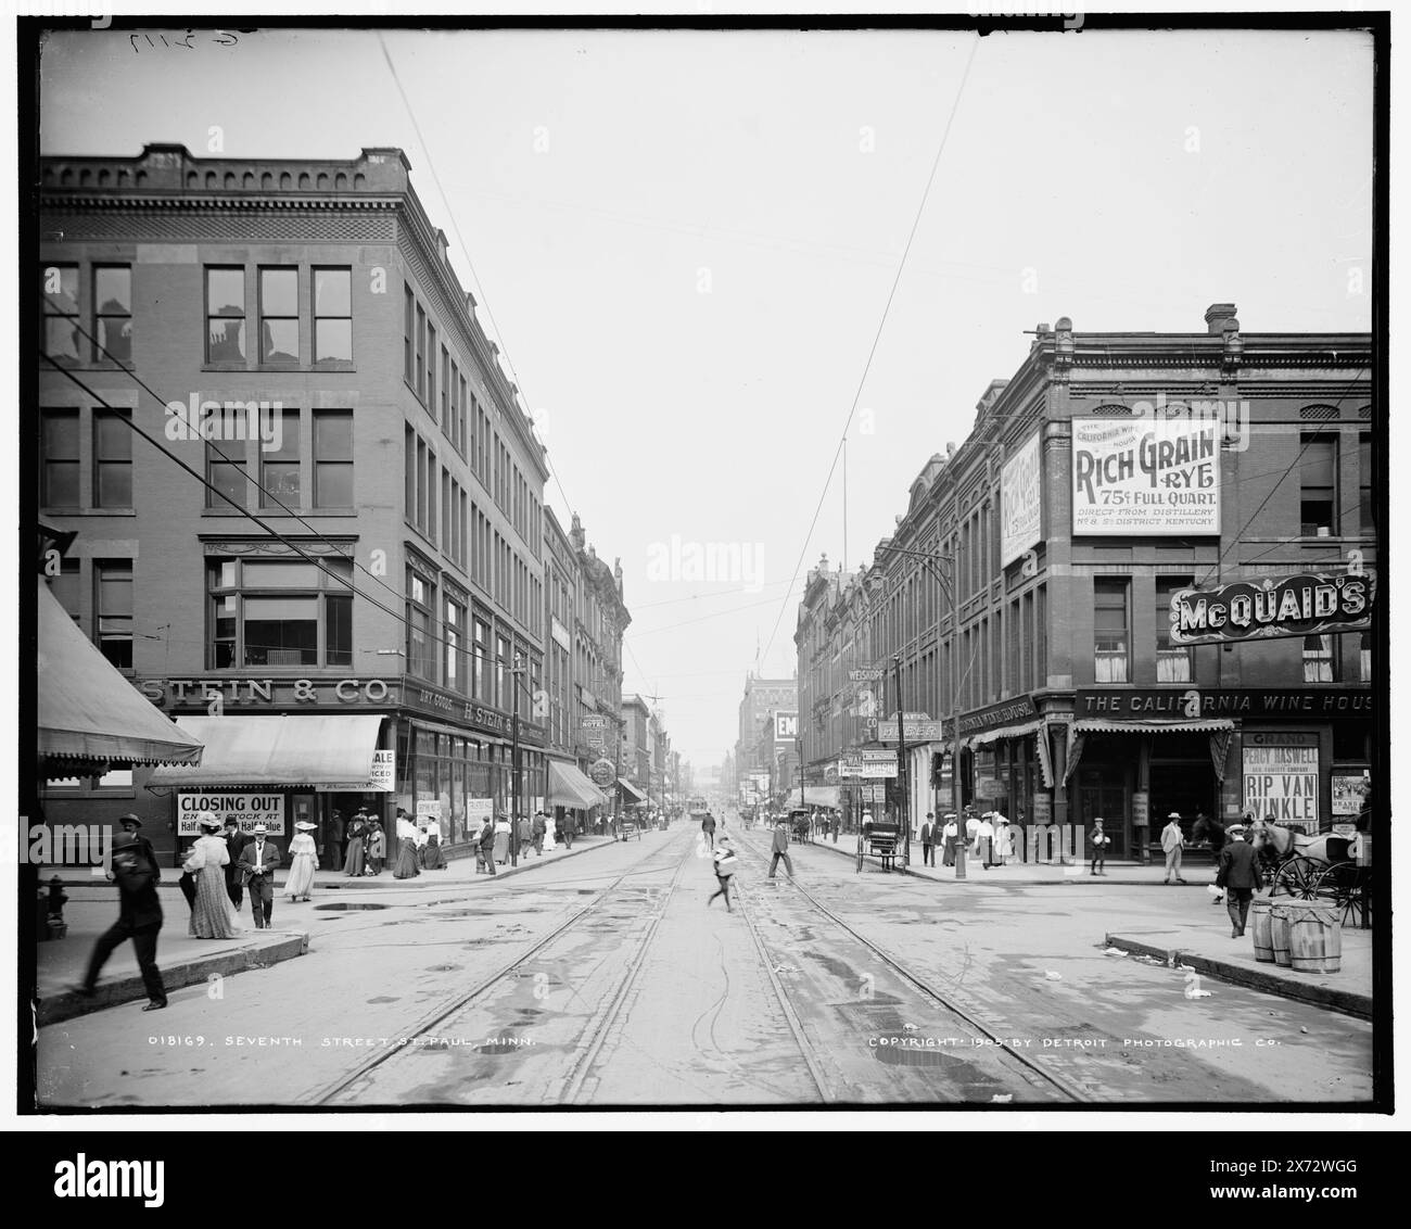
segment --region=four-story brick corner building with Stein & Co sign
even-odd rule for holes
[[[326,866],[357,806],[454,845],[509,807],[518,714],[542,800],[545,453],[401,151],[51,157],[40,193],[41,519],[78,532],[54,586],[207,744],[52,796],[166,848],[171,793],[309,818]]]

